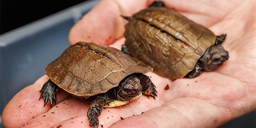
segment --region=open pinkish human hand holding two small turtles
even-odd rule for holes
[[[121,48],[127,22],[119,15],[132,15],[149,4],[144,0],[102,0],[71,29],[70,42],[93,41]],[[148,73],[157,86],[156,100],[141,96],[128,105],[107,108],[99,116],[99,128],[218,127],[256,109],[256,15],[252,13],[256,11],[255,0],[166,0],[165,4],[214,33],[227,33],[222,46],[229,51],[229,60],[194,79],[170,81]],[[42,108],[44,102],[38,101],[37,90],[47,79],[41,77],[6,105],[2,115],[6,128],[89,127],[89,105],[68,99],[70,95],[63,90],[57,92],[57,105]],[[169,90],[164,90],[166,84]]]

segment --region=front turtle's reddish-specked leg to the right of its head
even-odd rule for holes
[[[152,83],[148,76],[144,74],[137,74],[136,75],[140,79],[140,85],[142,86],[142,94],[145,96],[151,96],[155,99],[157,96],[156,86]]]

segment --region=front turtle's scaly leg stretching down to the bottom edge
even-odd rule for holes
[[[87,111],[87,117],[90,121],[90,126],[97,128],[99,126],[98,116],[102,112],[103,106],[106,104],[106,94],[104,96],[98,95],[93,97],[92,101],[90,102],[90,107]]]

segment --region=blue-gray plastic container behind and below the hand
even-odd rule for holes
[[[44,67],[70,45],[70,28],[98,2],[80,3],[0,36],[1,115],[12,97],[43,76]],[[243,126],[255,128],[255,111],[221,127]]]

